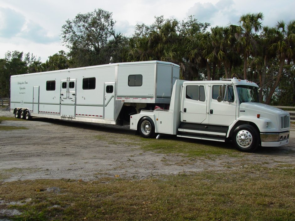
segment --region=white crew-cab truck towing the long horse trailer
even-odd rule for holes
[[[240,151],[288,143],[290,114],[259,103],[258,86],[248,80],[177,80],[169,110],[142,110],[130,116],[130,129],[143,137],[228,141]]]

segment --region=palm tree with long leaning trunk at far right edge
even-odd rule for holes
[[[275,28],[278,41],[271,44],[270,50],[276,52],[279,60],[279,72],[266,98],[266,104],[270,104],[271,97],[281,80],[285,62],[290,64],[292,60],[295,60],[295,20],[291,20],[287,24],[284,21],[278,21]]]

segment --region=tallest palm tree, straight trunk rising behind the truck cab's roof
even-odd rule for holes
[[[244,58],[244,80],[247,79],[247,59],[253,54],[258,45],[254,39],[256,34],[262,27],[263,13],[247,13],[242,15],[239,20],[237,29],[238,34],[238,49]]]

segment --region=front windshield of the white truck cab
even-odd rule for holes
[[[259,97],[257,88],[254,86],[249,85],[237,85],[237,91],[238,91],[238,97],[239,102],[258,102],[259,103]]]

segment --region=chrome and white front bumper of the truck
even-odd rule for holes
[[[260,133],[261,146],[281,146],[288,143],[290,131],[283,133]]]

